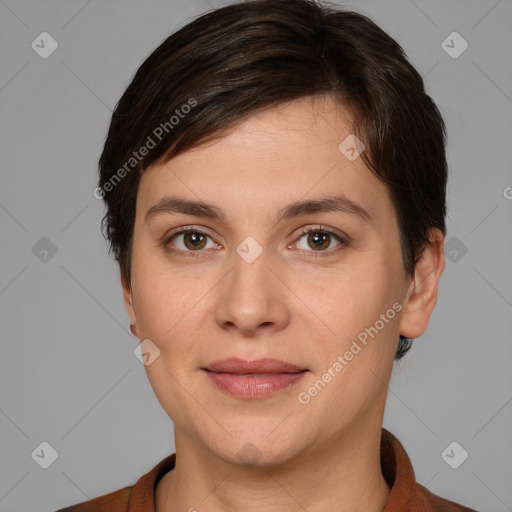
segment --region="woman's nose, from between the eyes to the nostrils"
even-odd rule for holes
[[[252,260],[243,247],[233,253],[231,271],[219,283],[215,308],[215,321],[222,329],[255,337],[284,329],[290,322],[291,294],[283,284],[282,270],[275,268],[278,263],[269,256],[263,250]]]

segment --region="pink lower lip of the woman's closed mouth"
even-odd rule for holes
[[[240,398],[264,398],[297,383],[307,372],[235,374],[205,371],[220,389]]]

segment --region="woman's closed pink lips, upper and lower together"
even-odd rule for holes
[[[307,370],[277,359],[223,359],[203,368],[222,390],[240,398],[264,398],[299,381]]]

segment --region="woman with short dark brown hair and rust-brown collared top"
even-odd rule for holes
[[[444,268],[445,127],[401,47],[311,0],[207,13],[119,101],[96,195],[176,453],[65,511],[470,511],[382,428]]]

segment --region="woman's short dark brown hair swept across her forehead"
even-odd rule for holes
[[[429,229],[446,233],[443,119],[394,39],[366,16],[317,0],[251,0],[207,12],[137,70],[113,112],[96,189],[122,275],[130,281],[142,172],[259,110],[319,94],[353,112],[361,158],[387,184],[412,275]],[[410,344],[400,336],[397,359]]]

